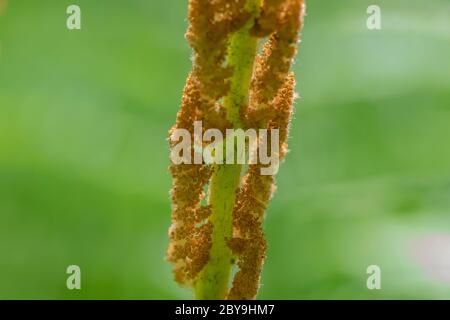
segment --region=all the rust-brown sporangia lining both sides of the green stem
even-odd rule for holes
[[[295,80],[290,68],[303,24],[303,2],[262,0],[260,15],[251,30],[251,35],[265,44],[255,60],[249,103],[241,106],[241,121],[245,128],[279,129],[280,160],[287,152],[293,112]],[[233,128],[223,106],[233,76],[233,68],[227,65],[227,47],[230,36],[251,18],[245,4],[246,0],[189,0],[186,37],[194,51],[193,70],[170,135],[182,128],[190,131],[194,139],[195,121],[203,122],[203,130],[217,128],[224,135],[225,129]],[[238,271],[228,299],[254,299],[258,291],[267,247],[263,217],[275,189],[274,176],[261,175],[261,167],[249,165],[236,190],[233,236],[227,240]],[[174,265],[177,282],[192,285],[207,264],[211,248],[211,208],[203,200],[213,169],[204,164],[171,164],[170,172],[173,188],[168,259]]]

